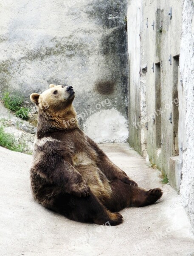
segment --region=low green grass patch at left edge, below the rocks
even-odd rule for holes
[[[12,134],[6,133],[3,126],[0,126],[0,145],[12,151],[24,152],[25,144],[17,143]]]

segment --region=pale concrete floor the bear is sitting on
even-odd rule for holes
[[[160,183],[160,172],[127,144],[100,146],[139,186],[161,187],[163,198],[149,207],[124,209],[124,223],[116,227],[70,221],[34,202],[32,157],[0,147],[0,255],[194,256],[194,236],[180,198]]]

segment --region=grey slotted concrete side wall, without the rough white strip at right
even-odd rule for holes
[[[181,0],[131,0],[128,6],[129,143],[172,176],[174,186],[176,180],[169,169],[175,168],[171,164],[180,166],[177,88],[181,9]]]

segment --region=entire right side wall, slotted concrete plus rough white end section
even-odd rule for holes
[[[168,176],[194,224],[193,17],[191,0],[128,1],[129,144]]]

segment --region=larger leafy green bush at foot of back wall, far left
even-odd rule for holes
[[[6,92],[3,94],[3,103],[6,108],[16,112],[21,108],[23,98],[18,94],[13,95]]]

